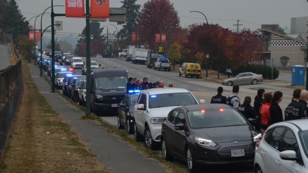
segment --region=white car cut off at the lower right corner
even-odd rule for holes
[[[255,173],[308,173],[308,119],[270,125],[257,144]]]

